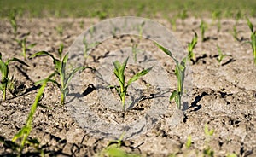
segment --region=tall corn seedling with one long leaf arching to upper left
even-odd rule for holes
[[[166,55],[171,56],[172,60],[175,62],[175,76],[177,78],[177,90],[174,90],[172,92],[172,95],[170,96],[170,102],[172,99],[175,99],[175,102],[177,104],[177,108],[181,109],[181,98],[183,96],[183,83],[185,78],[185,70],[186,70],[186,62],[189,59],[189,55],[183,58],[181,62],[178,62],[173,56],[172,52],[169,49],[164,48],[160,44],[155,43],[162,51],[166,53]]]

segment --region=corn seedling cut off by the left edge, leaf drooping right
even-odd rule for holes
[[[8,89],[8,86],[12,80],[11,78],[9,78],[9,63],[13,61],[20,62],[20,64],[23,64],[28,67],[28,65],[24,61],[20,61],[18,58],[12,58],[4,62],[2,60],[2,54],[0,53],[0,71],[2,74],[0,90],[2,90],[3,92],[3,101],[6,100],[6,90]]]

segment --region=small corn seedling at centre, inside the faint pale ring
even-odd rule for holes
[[[148,69],[145,69],[135,74],[132,78],[128,80],[127,84],[125,84],[125,67],[127,65],[128,59],[129,58],[127,58],[122,65],[119,63],[119,61],[113,62],[113,66],[114,66],[113,73],[116,76],[116,78],[118,78],[119,80],[119,87],[113,86],[113,85],[109,86],[109,87],[114,87],[115,90],[117,90],[124,109],[125,109],[125,95],[128,87],[131,85],[131,83],[133,83],[134,81],[137,81],[138,78],[141,78],[142,76],[146,75],[153,68],[153,67],[150,67]]]

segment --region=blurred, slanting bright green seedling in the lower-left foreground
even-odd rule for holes
[[[21,142],[19,144],[20,145],[20,150],[19,150],[20,155],[22,154],[23,148],[25,147],[26,143],[28,143],[29,145],[35,145],[36,147],[39,145],[38,140],[36,140],[36,139],[28,140],[27,138],[28,138],[30,132],[32,131],[33,115],[36,113],[36,110],[38,108],[38,103],[43,96],[44,88],[45,88],[47,82],[50,80],[50,78],[52,78],[54,75],[55,75],[55,73],[49,75],[48,78],[44,79],[42,86],[38,90],[38,94],[35,98],[35,102],[33,102],[30,113],[28,114],[28,117],[26,119],[26,125],[23,126],[21,128],[21,130],[17,134],[15,134],[15,137],[13,137],[13,139],[12,139],[13,142],[15,142],[17,139],[21,139]]]

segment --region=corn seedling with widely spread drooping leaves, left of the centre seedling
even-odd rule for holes
[[[68,59],[68,53],[62,57],[63,53],[63,44],[61,44],[60,49],[58,50],[59,57],[60,59],[56,59],[54,55],[49,54],[49,52],[46,51],[39,51],[33,55],[30,56],[30,58],[33,58],[38,55],[48,55],[53,59],[53,63],[55,65],[55,74],[60,77],[61,79],[61,84],[59,84],[56,80],[54,79],[49,79],[49,82],[56,84],[57,87],[61,90],[61,105],[64,105],[65,103],[65,98],[68,93],[68,88],[67,85],[73,78],[73,75],[77,73],[79,70],[84,70],[85,68],[91,68],[91,67],[77,67],[74,68],[73,71],[69,74],[65,73],[66,70],[66,65],[67,65],[67,59]],[[39,80],[35,84],[42,84],[44,83],[45,79]]]

